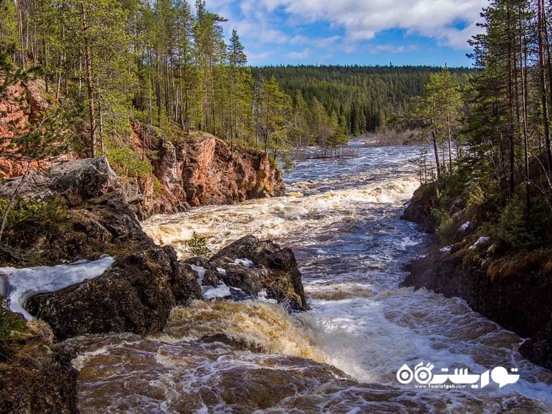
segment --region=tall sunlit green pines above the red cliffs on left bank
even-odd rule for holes
[[[210,132],[232,149],[285,148],[299,133],[291,100],[275,79],[253,81],[225,22],[202,0],[0,0],[0,55],[40,68],[89,156],[120,155],[133,121]]]

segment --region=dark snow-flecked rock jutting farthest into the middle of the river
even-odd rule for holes
[[[246,236],[220,250],[209,264],[225,270],[225,273],[218,273],[218,277],[228,286],[252,296],[266,290],[268,299],[276,299],[290,311],[308,309],[301,273],[289,248]]]

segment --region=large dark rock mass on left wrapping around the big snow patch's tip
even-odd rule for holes
[[[175,304],[201,298],[195,274],[179,262],[175,250],[157,246],[141,230],[105,158],[56,166],[43,186],[70,208],[58,233],[41,239],[42,253],[35,264],[97,259],[103,254],[116,258],[96,279],[28,300],[28,311],[48,322],[58,338],[158,333]]]

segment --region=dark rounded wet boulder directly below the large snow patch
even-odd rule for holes
[[[31,297],[26,308],[58,339],[89,333],[160,332],[174,304],[170,259],[162,250],[119,259],[96,279]],[[176,277],[176,276],[175,276]]]

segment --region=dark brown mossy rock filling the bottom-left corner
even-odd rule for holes
[[[0,413],[78,413],[77,375],[44,322],[28,322],[0,356]]]

